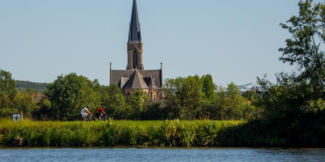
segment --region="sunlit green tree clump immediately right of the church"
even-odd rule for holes
[[[209,74],[201,79],[197,75],[168,78],[165,94],[168,114],[180,119],[249,119],[259,115],[234,83],[216,89]]]

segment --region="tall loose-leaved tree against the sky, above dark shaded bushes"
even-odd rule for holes
[[[291,17],[288,24],[280,24],[291,37],[286,39],[286,47],[279,49],[283,53],[279,60],[297,65],[298,71],[278,74],[278,83],[299,84],[301,95],[298,98],[306,110],[325,100],[325,57],[324,51],[320,50],[325,43],[325,7],[321,4],[312,7],[311,3],[311,0],[300,1],[299,16]]]

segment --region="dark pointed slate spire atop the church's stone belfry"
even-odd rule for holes
[[[133,0],[131,23],[129,27],[128,43],[142,43],[137,1]]]

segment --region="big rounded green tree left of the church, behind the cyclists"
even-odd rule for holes
[[[99,85],[84,76],[75,73],[60,75],[47,86],[45,94],[51,101],[51,110],[55,118],[66,120],[80,116],[80,111],[87,105],[90,112],[101,105]]]

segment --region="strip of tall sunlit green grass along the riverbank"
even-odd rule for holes
[[[28,121],[0,119],[0,145],[17,146],[220,146],[219,133],[245,121]]]

